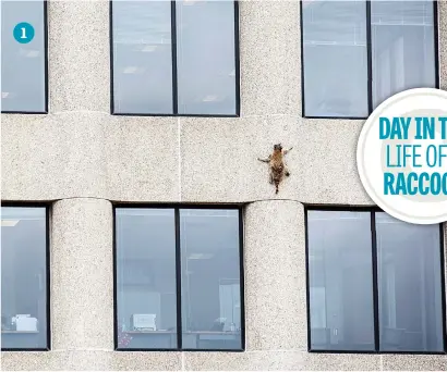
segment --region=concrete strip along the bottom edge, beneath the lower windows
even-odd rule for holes
[[[3,371],[446,371],[446,356],[246,352],[2,352]]]

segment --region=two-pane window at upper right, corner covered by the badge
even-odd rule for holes
[[[438,86],[436,1],[303,0],[301,14],[303,116],[367,117]]]

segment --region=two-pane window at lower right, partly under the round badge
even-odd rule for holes
[[[444,352],[439,225],[307,211],[310,350]]]

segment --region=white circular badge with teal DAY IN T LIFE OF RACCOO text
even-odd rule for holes
[[[447,221],[447,92],[420,88],[388,98],[363,126],[357,164],[388,214],[414,224]]]

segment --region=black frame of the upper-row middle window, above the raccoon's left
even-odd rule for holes
[[[226,0],[229,1],[229,0]],[[113,91],[113,0],[109,0],[109,40],[110,40],[110,113],[117,116],[170,116],[170,117],[240,117],[241,115],[241,79],[240,79],[240,32],[239,32],[239,0],[232,0],[234,4],[234,89],[235,113],[234,114],[181,114],[178,110],[178,67],[177,67],[177,10],[176,0],[171,2],[171,63],[172,63],[172,113],[125,113],[114,112]]]

